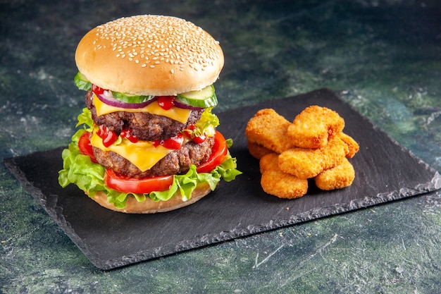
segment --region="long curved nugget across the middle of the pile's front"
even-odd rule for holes
[[[340,164],[347,153],[347,145],[340,137],[333,136],[322,148],[292,148],[282,152],[278,157],[279,168],[297,178],[313,178]]]

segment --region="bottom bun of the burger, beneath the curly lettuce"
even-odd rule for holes
[[[167,201],[154,201],[149,198],[142,202],[138,202],[135,197],[128,197],[125,207],[123,209],[116,208],[113,203],[107,201],[106,193],[99,191],[92,200],[100,204],[102,207],[114,210],[116,212],[124,212],[126,214],[156,214],[156,212],[170,212],[181,207],[186,207],[187,205],[197,202],[205,195],[211,192],[211,188],[208,183],[200,183],[196,189],[192,192],[192,197],[190,200],[184,201],[178,192],[175,196]]]

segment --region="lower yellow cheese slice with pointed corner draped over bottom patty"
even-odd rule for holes
[[[123,139],[118,145],[112,144],[109,147],[105,147],[103,140],[96,134],[95,130],[92,133],[90,144],[101,150],[112,151],[119,154],[132,164],[135,164],[141,171],[151,169],[158,161],[173,151],[162,145],[154,147],[153,142],[150,141],[132,143],[127,139]]]

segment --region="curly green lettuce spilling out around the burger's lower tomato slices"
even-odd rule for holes
[[[206,114],[207,119],[213,121],[213,114],[208,111]],[[208,118],[209,117],[209,118]],[[84,124],[85,128],[77,130],[72,137],[72,142],[68,145],[67,149],[63,150],[63,169],[58,172],[58,183],[61,187],[66,187],[70,183],[78,186],[83,191],[86,191],[89,197],[103,191],[107,195],[107,200],[113,203],[116,208],[123,209],[128,197],[135,197],[137,201],[142,202],[147,198],[154,201],[167,201],[173,197],[176,192],[180,192],[183,200],[189,200],[191,198],[193,190],[199,183],[208,183],[211,190],[215,190],[216,185],[223,180],[230,182],[234,180],[236,176],[240,175],[238,171],[236,159],[232,158],[230,152],[223,163],[216,167],[210,173],[197,173],[196,166],[190,166],[190,170],[183,175],[175,175],[173,177],[173,184],[169,190],[163,192],[151,192],[148,194],[135,194],[132,192],[119,192],[108,188],[104,184],[104,174],[106,170],[103,166],[95,164],[86,155],[81,154],[78,149],[78,140],[82,133],[92,128],[92,118],[90,118],[89,109],[83,109],[82,114],[78,116],[78,124]],[[228,147],[232,144],[231,140],[228,140]]]

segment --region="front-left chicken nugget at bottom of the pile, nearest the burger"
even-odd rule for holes
[[[308,192],[308,180],[301,180],[282,171],[262,173],[261,186],[263,191],[279,198],[299,198]]]

